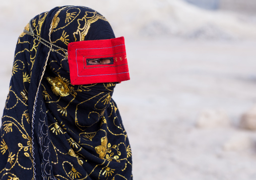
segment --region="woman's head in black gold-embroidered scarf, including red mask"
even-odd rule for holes
[[[120,82],[130,79],[123,37],[115,38],[106,18],[90,8],[74,6],[54,8],[33,18],[24,32],[41,43],[35,48],[37,56],[40,54],[44,61],[48,61],[55,73],[60,73],[67,79],[70,79],[69,75],[75,74],[72,84],[77,84],[74,79],[82,84]],[[49,49],[53,53],[49,52]],[[78,59],[81,55],[80,50],[86,51],[83,52],[82,59]],[[72,51],[75,51],[75,54],[73,53],[70,59]],[[68,55],[69,60],[72,60],[69,64]],[[61,68],[56,69],[55,64]],[[86,65],[90,66],[86,67]],[[103,67],[91,65],[103,65]],[[100,73],[81,74],[79,71]],[[90,77],[90,81],[77,79],[82,77]],[[92,78],[97,80],[94,81]]]

